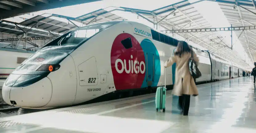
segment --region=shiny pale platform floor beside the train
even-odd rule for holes
[[[188,116],[167,92],[166,112],[155,111],[155,94],[60,108],[0,119],[0,132],[29,133],[218,133],[256,132],[256,87],[242,77],[198,85]]]

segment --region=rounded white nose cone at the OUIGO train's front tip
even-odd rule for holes
[[[15,78],[17,80],[15,80]],[[47,105],[52,97],[51,80],[48,77],[44,77],[37,82],[32,83],[33,81],[24,78],[23,75],[16,74],[8,77],[2,87],[3,100],[9,105],[17,107],[43,107]],[[23,83],[21,85],[19,82],[24,82],[24,80],[27,80],[27,82],[32,84],[24,85]]]

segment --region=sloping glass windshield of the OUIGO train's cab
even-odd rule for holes
[[[73,49],[91,36],[106,29],[107,27],[114,25],[113,23],[100,23],[94,25],[88,25],[65,33],[56,40],[53,40],[47,46],[57,46],[60,49]],[[58,49],[57,48],[57,49]],[[56,49],[56,48],[55,48]]]

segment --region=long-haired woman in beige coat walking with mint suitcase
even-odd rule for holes
[[[191,55],[193,55],[196,65],[198,65],[199,59],[192,48],[190,48],[185,41],[179,41],[174,56],[170,57],[164,63],[164,67],[169,67],[173,63],[176,63],[175,83],[172,94],[179,96],[179,107],[182,109],[184,116],[188,115],[190,95],[198,95],[195,81],[190,74],[188,66]]]

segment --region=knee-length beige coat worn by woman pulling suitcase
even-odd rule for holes
[[[164,64],[164,67],[169,67],[173,63],[176,63],[175,83],[173,85],[173,90],[172,90],[173,95],[176,95],[176,96],[181,96],[182,94],[198,95],[196,84],[189,72],[188,61],[190,57],[191,57],[191,53],[184,52],[184,54],[181,55],[181,57],[177,55],[170,57]],[[198,65],[199,59],[194,52],[193,52],[193,57],[194,57],[194,60],[196,61],[196,65]]]

